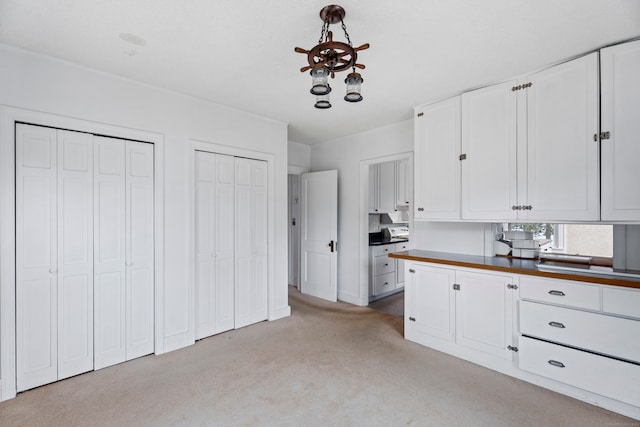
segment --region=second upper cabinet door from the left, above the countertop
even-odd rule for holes
[[[506,82],[462,94],[462,218],[511,220],[517,201],[516,99]]]

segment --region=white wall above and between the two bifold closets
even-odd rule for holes
[[[286,124],[4,45],[0,45],[0,64],[0,105],[161,135],[165,159],[164,351],[193,343],[190,140],[267,153],[273,159],[275,258],[269,318],[289,314]],[[13,143],[0,140],[0,148]],[[1,190],[0,201],[7,204],[4,194],[9,189]],[[0,221],[6,229],[6,216]],[[10,249],[4,248],[5,252]]]

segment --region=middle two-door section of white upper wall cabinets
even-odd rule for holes
[[[462,218],[597,221],[598,129],[597,53],[463,94]]]

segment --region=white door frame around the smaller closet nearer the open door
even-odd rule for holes
[[[224,145],[221,143],[189,139],[188,144],[188,164],[187,164],[187,176],[190,178],[188,181],[188,194],[187,194],[187,225],[189,229],[188,235],[188,256],[189,268],[188,273],[188,288],[189,288],[189,340],[195,342],[195,322],[196,322],[196,310],[195,310],[195,271],[196,271],[196,256],[195,256],[195,232],[196,232],[196,211],[195,211],[195,160],[196,151],[205,151],[214,154],[226,154],[234,157],[244,157],[254,160],[262,160],[267,162],[267,320],[276,320],[282,317],[282,313],[277,312],[275,305],[275,156],[269,153],[263,153],[260,151],[247,150],[244,148],[238,148],[232,145]]]

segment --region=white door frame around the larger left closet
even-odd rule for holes
[[[0,402],[16,396],[15,123],[154,144],[154,353],[164,353],[164,137],[161,134],[0,105]]]

